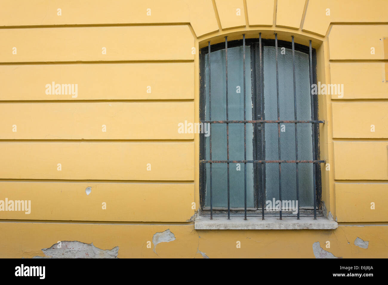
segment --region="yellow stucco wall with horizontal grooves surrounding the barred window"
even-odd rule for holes
[[[388,2],[372,2],[1,1],[0,200],[31,200],[31,213],[0,211],[0,257],[58,241],[118,246],[120,258],[314,258],[315,242],[388,257]],[[199,49],[259,32],[312,40],[318,81],[344,85],[342,98],[318,97],[336,230],[194,230],[199,135],[177,124],[199,121]],[[77,95],[47,94],[53,81]],[[175,240],[147,247],[167,229]]]

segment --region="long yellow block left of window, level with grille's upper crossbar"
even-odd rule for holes
[[[194,123],[193,102],[4,103],[0,121],[0,139],[194,139],[178,132]]]

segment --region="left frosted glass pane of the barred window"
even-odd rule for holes
[[[242,47],[228,48],[228,107],[229,120],[244,119]],[[226,76],[225,50],[211,52],[211,120],[226,120]],[[205,57],[205,117],[209,120],[209,70]],[[246,48],[246,118],[252,119],[251,54]],[[206,140],[206,159],[210,159],[210,139]],[[247,159],[253,159],[253,126],[246,124]],[[226,124],[211,126],[212,159],[227,160]],[[244,124],[229,124],[229,159],[244,160]],[[227,207],[227,164],[212,166],[213,207]],[[237,170],[236,164],[229,164],[230,207],[244,207],[244,164]],[[254,206],[253,164],[247,164],[247,207]],[[205,206],[210,207],[210,165],[206,164]]]

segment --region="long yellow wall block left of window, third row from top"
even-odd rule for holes
[[[46,85],[75,84],[78,94],[46,94]],[[0,66],[0,100],[194,99],[194,63]]]

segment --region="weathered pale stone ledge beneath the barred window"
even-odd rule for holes
[[[196,230],[334,230],[338,227],[335,221],[324,217],[209,217],[197,216],[194,221]]]

